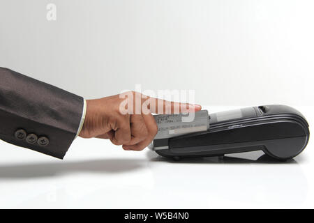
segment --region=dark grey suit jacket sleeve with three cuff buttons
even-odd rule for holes
[[[62,159],[82,118],[82,97],[0,68],[0,139]]]

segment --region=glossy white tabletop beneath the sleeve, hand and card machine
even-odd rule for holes
[[[311,125],[314,107],[296,108]],[[290,162],[255,162],[262,152],[172,162],[78,138],[57,160],[0,141],[0,208],[314,208],[313,147]]]

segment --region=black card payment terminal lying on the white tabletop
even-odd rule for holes
[[[292,107],[265,105],[209,115],[210,128],[168,139],[155,139],[151,148],[172,157],[218,156],[264,151],[287,160],[304,150],[310,131],[306,118]]]

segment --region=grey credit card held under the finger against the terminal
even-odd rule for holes
[[[154,118],[158,125],[155,139],[166,139],[192,132],[209,130],[209,116],[207,110],[195,112],[193,121],[186,122],[191,114],[158,114]]]

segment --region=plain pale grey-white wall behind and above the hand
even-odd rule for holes
[[[57,21],[46,19],[47,3]],[[0,66],[85,98],[193,89],[202,105],[313,105],[311,0],[1,0]]]

